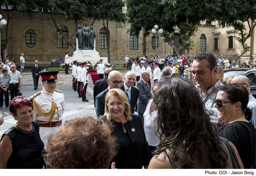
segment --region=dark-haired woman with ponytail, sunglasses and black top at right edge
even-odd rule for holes
[[[219,134],[234,144],[245,169],[256,168],[256,130],[252,123],[252,110],[247,107],[247,89],[233,83],[223,86],[215,100],[218,118],[225,122]]]

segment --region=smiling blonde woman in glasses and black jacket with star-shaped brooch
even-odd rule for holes
[[[105,113],[100,119],[114,125],[112,135],[118,143],[118,153],[112,161],[115,168],[147,169],[151,157],[143,125],[138,115],[130,113],[124,91],[111,89],[106,94]]]

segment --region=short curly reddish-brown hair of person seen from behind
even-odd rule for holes
[[[67,121],[48,139],[50,169],[106,169],[116,154],[110,124],[92,117]]]

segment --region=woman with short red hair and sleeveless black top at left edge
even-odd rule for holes
[[[10,102],[9,110],[18,122],[1,138],[0,168],[41,169],[44,143],[39,135],[39,123],[33,121],[32,100],[17,96]]]

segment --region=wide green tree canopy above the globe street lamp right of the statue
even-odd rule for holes
[[[164,30],[161,36],[177,53],[185,54],[193,46],[190,39],[201,21],[210,24],[215,14],[220,10],[221,0],[126,0],[127,22],[131,24],[129,32],[139,34],[145,30],[145,36],[150,34],[154,25]],[[177,48],[174,43],[174,32],[180,33]]]

